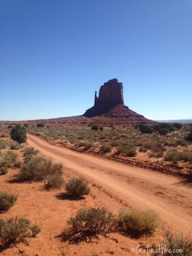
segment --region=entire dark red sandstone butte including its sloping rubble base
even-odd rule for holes
[[[109,80],[100,87],[99,97],[95,92],[95,104],[85,112],[84,116],[121,119],[130,123],[154,122],[124,105],[123,85],[116,78]]]

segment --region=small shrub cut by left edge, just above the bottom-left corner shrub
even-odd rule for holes
[[[0,191],[0,211],[8,211],[15,204],[17,196]]]

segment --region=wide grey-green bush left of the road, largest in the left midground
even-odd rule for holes
[[[20,178],[22,181],[42,181],[48,175],[62,175],[62,169],[61,163],[53,163],[42,156],[33,156],[22,163]]]

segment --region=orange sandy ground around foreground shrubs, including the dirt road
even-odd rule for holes
[[[131,251],[138,245],[159,244],[162,240],[161,226],[187,233],[192,226],[192,189],[182,180],[153,171],[104,160],[85,153],[51,145],[43,139],[28,135],[28,145],[40,150],[52,160],[64,163],[63,177],[83,175],[90,181],[91,194],[83,200],[66,197],[65,190],[45,191],[43,182],[19,183],[19,170],[11,169],[0,176],[0,190],[18,195],[17,203],[0,218],[25,216],[41,226],[41,233],[29,241],[29,246],[18,244],[0,250],[5,256],[124,256],[137,255]],[[22,157],[22,154],[19,154]],[[69,244],[59,239],[67,220],[83,207],[104,206],[117,214],[123,205],[134,208],[153,208],[159,212],[163,223],[152,236],[138,239],[113,233],[112,238],[99,237],[92,243]],[[139,254],[139,255],[146,255]]]

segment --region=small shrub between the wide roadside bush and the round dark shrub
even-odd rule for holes
[[[49,175],[44,181],[44,188],[47,190],[50,189],[60,189],[64,185],[64,179],[59,174]]]

